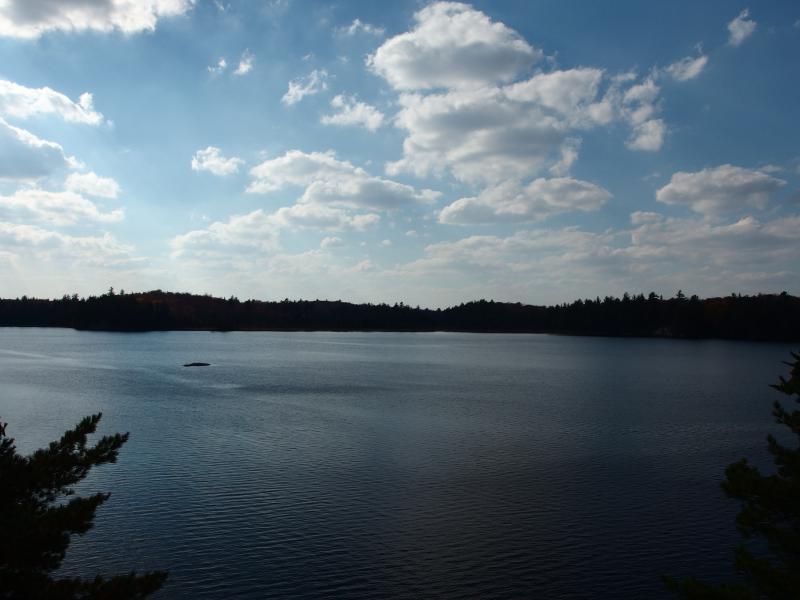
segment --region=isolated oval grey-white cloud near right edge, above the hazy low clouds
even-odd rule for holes
[[[772,193],[785,184],[762,171],[726,164],[694,173],[675,173],[656,192],[656,200],[683,204],[704,215],[719,215],[747,208],[763,209]]]

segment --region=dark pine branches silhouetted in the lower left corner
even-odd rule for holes
[[[163,571],[111,578],[54,578],[73,534],[92,527],[95,511],[110,494],[75,496],[72,486],[92,467],[117,460],[128,434],[87,446],[102,414],[83,419],[61,438],[29,456],[17,454],[0,423],[0,598],[145,598],[161,587]]]

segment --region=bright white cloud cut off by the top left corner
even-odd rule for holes
[[[194,0],[4,0],[0,36],[36,38],[48,31],[153,31],[159,19],[185,13]]]

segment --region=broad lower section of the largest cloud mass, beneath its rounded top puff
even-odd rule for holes
[[[622,90],[611,82],[600,97],[603,72],[570,69],[507,86],[434,94],[401,94],[395,125],[405,130],[403,157],[390,175],[451,172],[470,183],[566,175],[578,157],[582,131],[621,119],[632,130],[628,147],[658,150],[666,133],[652,79]]]

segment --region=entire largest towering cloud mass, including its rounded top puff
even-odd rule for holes
[[[472,37],[454,33],[465,23],[474,25]],[[454,3],[422,9],[414,29],[376,51],[370,65],[401,91],[394,124],[406,133],[403,156],[386,165],[389,175],[450,173],[490,185],[547,171],[565,176],[578,159],[582,132],[614,121],[630,127],[631,150],[663,145],[667,126],[654,76],[637,81],[632,73],[576,67],[514,81],[521,69],[513,60],[507,69],[481,70],[505,52],[528,62],[539,55],[502,23]],[[448,62],[453,56],[458,68]]]

